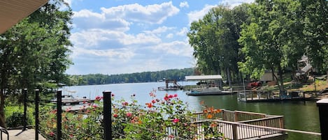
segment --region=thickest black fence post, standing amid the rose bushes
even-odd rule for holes
[[[104,95],[104,140],[112,139],[112,103],[111,91],[103,91]]]

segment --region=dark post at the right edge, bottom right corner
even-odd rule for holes
[[[317,107],[319,107],[321,139],[328,139],[328,99],[319,100]]]

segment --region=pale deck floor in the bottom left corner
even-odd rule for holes
[[[10,140],[34,140],[35,139],[35,130],[8,130]],[[2,139],[7,139],[7,134],[2,134]],[[41,134],[38,134],[39,140],[46,140]]]

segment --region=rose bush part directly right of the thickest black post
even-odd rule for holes
[[[152,100],[144,107],[137,104],[134,96],[131,102],[121,100],[113,105],[115,139],[194,138],[196,131],[187,105],[176,94],[166,94],[160,99],[155,93],[155,90],[149,93]]]

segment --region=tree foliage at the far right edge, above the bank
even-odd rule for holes
[[[301,0],[306,52],[318,72],[328,75],[328,1]],[[328,79],[327,79],[328,80]]]

